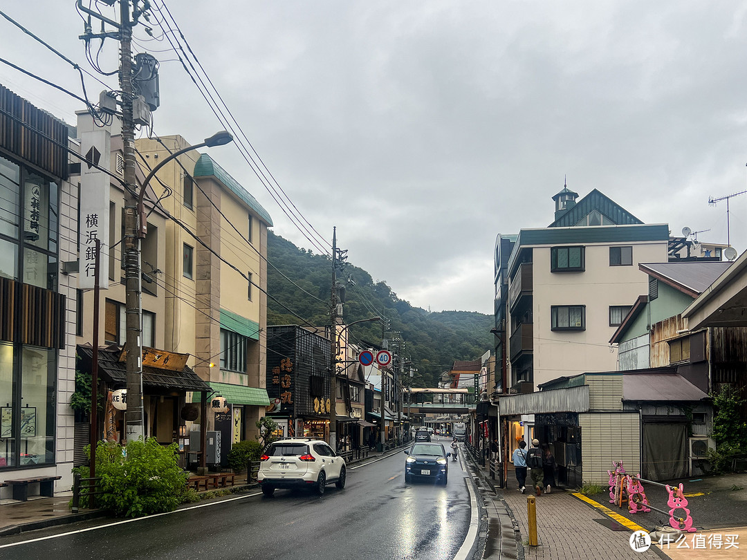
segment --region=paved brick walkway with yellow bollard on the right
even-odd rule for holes
[[[521,531],[524,558],[531,560],[568,559],[658,559],[653,550],[636,553],[630,548],[630,531],[613,531],[597,523],[604,517],[598,511],[562,491],[536,498],[539,546],[527,543],[527,494],[515,489],[498,490],[498,497],[511,508]]]

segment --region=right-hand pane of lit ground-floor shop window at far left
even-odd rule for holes
[[[21,464],[55,461],[55,351],[24,346],[21,358]]]

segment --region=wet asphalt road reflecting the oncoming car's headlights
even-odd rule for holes
[[[352,465],[346,488],[329,485],[323,497],[251,492],[128,523],[99,520],[16,535],[0,540],[0,559],[454,559],[472,519],[468,473],[462,461],[450,461],[447,486],[405,484],[405,458],[399,452]],[[474,534],[460,558],[471,557],[465,552]],[[30,541],[47,535],[61,536]],[[19,544],[2,547],[12,542]]]

